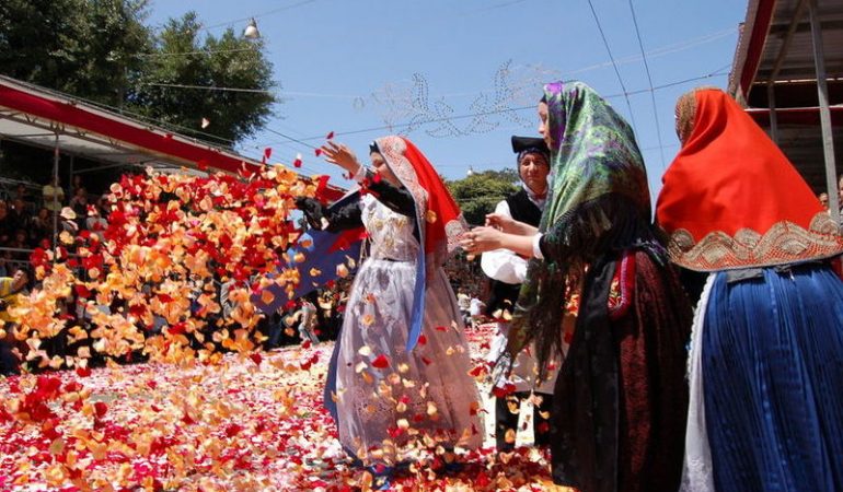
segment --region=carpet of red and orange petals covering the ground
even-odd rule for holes
[[[469,332],[477,367],[492,331]],[[0,491],[369,490],[372,477],[345,458],[322,408],[332,348],[0,378]],[[458,473],[411,467],[392,487],[547,490],[546,458],[531,447],[498,455],[489,436]]]

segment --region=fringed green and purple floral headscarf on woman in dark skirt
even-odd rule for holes
[[[633,130],[609,103],[577,81],[545,85],[542,101],[548,112],[552,185],[539,230],[552,254],[530,262],[509,352],[515,355],[535,339],[544,367],[554,343],[561,347],[566,276],[616,246],[604,237],[616,229],[613,221],[649,224],[650,201]]]

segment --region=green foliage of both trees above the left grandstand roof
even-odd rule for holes
[[[148,0],[3,0],[0,73],[232,145],[255,133],[275,102],[262,42],[203,31],[194,12],[160,31]],[[168,85],[240,87],[224,92]],[[210,125],[203,129],[206,118]]]

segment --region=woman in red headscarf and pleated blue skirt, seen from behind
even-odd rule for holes
[[[708,274],[693,325],[683,490],[843,490],[843,282],[836,224],[726,93],[677,103],[682,149],[657,221]]]

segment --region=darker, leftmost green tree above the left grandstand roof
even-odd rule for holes
[[[3,0],[0,73],[106,105],[123,103],[151,47],[147,0]]]

